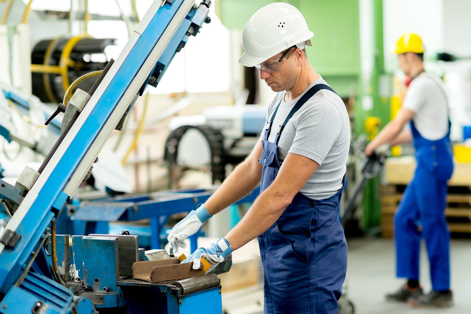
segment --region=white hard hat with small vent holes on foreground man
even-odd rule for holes
[[[311,46],[308,24],[291,4],[275,2],[261,8],[248,20],[242,32],[244,54],[239,63],[255,66],[294,45]],[[308,41],[305,43],[305,41]]]

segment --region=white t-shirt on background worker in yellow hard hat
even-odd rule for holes
[[[422,137],[434,141],[448,133],[448,108],[443,81],[423,73],[411,82],[402,106],[414,112],[412,120]]]

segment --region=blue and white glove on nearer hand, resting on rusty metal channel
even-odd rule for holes
[[[233,250],[230,247],[229,242],[225,238],[220,238],[216,243],[211,243],[211,247],[209,248],[199,248],[195,250],[195,252],[187,257],[187,259],[182,263],[193,261],[193,269],[200,269],[201,257],[203,257],[211,264],[211,267],[205,273],[208,274],[214,269],[214,267],[218,266],[219,263],[222,263],[224,258],[232,252]]]

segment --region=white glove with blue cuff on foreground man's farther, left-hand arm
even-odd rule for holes
[[[190,211],[187,217],[180,220],[167,237],[170,245],[173,245],[173,252],[177,253],[179,248],[185,249],[187,247],[185,239],[200,230],[203,223],[209,218],[211,218],[210,213],[203,204],[200,204],[196,210]]]

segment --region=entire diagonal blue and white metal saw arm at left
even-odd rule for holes
[[[208,22],[211,2],[155,0],[87,105],[24,197],[0,243],[0,298],[21,284],[49,225],[73,195],[111,132],[147,84],[156,85],[173,56]],[[1,300],[0,300],[1,301]]]

